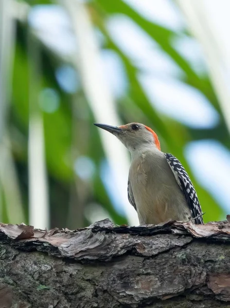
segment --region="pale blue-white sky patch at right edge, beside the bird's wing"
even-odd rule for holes
[[[200,185],[205,187],[229,214],[230,151],[214,140],[190,142],[185,155]]]

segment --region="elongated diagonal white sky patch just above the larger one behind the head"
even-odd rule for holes
[[[121,14],[113,15],[107,26],[115,43],[138,68],[165,75],[182,74],[170,56],[130,18]]]

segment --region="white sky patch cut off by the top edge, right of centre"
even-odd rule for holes
[[[174,31],[185,28],[182,15],[170,0],[124,0],[147,20]]]

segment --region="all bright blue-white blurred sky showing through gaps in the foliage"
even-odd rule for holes
[[[175,31],[183,32],[186,29],[182,14],[169,0],[154,0],[154,2],[126,0],[125,2],[148,20]],[[212,15],[218,31],[222,31],[221,23],[223,23],[225,30],[229,29],[228,14],[227,16],[225,14],[224,18],[223,15],[217,14],[216,1],[208,2],[208,6],[209,14]],[[220,18],[223,18],[222,21]],[[29,14],[29,22],[38,31],[42,40],[65,59],[76,53],[77,42],[71,29],[70,20],[61,7],[55,5],[34,7]],[[228,23],[228,27],[226,27],[226,23]],[[107,26],[116,44],[129,55],[136,67],[140,69],[139,81],[149,100],[160,113],[169,115],[192,128],[211,128],[218,124],[219,115],[213,106],[201,92],[178,80],[178,76],[183,74],[180,68],[133,21],[125,15],[114,15],[108,20]],[[101,34],[96,32],[96,35],[101,42],[103,40]],[[206,70],[204,55],[196,40],[181,34],[173,44],[198,74],[202,74]],[[120,97],[125,93],[127,86],[122,63],[119,57],[111,51],[102,51],[101,57],[111,91],[114,97]],[[68,93],[75,92],[79,87],[77,73],[70,66],[60,67],[57,70],[56,78]],[[54,98],[55,94],[49,89],[48,95]],[[57,108],[59,103],[54,103],[54,99],[51,100],[53,105],[48,108],[47,112],[55,111]],[[188,163],[194,171],[194,176],[203,187],[210,191],[210,194],[218,200],[224,209],[230,212],[229,151],[213,140],[192,142],[184,150]],[[78,173],[80,172],[78,164],[75,169]],[[102,170],[104,179],[106,174]],[[108,189],[115,200],[116,194],[113,187],[108,187]],[[122,211],[120,202],[117,201],[115,204],[117,204],[118,210]]]

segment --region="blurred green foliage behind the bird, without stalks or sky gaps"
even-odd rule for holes
[[[51,1],[27,1],[30,6],[38,4],[50,5]],[[134,11],[121,0],[94,0],[87,3],[92,21],[103,34],[101,46],[103,50],[112,50],[123,63],[127,79],[127,92],[117,99],[117,112],[123,123],[137,119],[152,127],[160,136],[162,150],[171,152],[187,169],[202,204],[205,221],[218,220],[223,217],[223,210],[209,192],[197,182],[185,156],[184,148],[190,141],[212,138],[230,148],[229,135],[223,114],[211,86],[208,73],[199,75],[191,64],[176,51],[172,39],[187,35],[187,31],[176,33],[161,25],[150,22]],[[149,101],[137,75],[138,67],[123,53],[109,34],[106,21],[113,14],[124,14],[131,18],[151,39],[158,44],[162,52],[174,61],[183,71],[180,80],[201,91],[220,115],[218,126],[211,129],[192,129],[155,110]],[[27,22],[16,22],[15,59],[13,64],[12,99],[10,105],[8,129],[12,144],[12,152],[19,177],[20,190],[24,211],[28,219],[28,127],[29,127],[29,54],[28,40],[31,39],[30,26]],[[80,86],[76,93],[66,93],[56,79],[56,70],[61,65],[69,64],[68,60],[48,48],[33,34],[33,40],[39,46],[40,92],[44,88],[54,89],[58,95],[59,107],[55,112],[40,110],[44,120],[45,155],[48,170],[48,187],[50,197],[51,226],[76,228],[85,226],[85,212],[89,204],[97,203],[117,224],[127,223],[114,208],[113,200],[108,195],[101,179],[100,166],[105,159],[98,130],[92,125],[94,114],[87,104],[84,91]],[[80,72],[78,72],[80,74]],[[186,102],[185,102],[186,104]],[[138,117],[136,114],[139,114]],[[176,138],[176,140],[175,140]],[[90,180],[82,180],[74,172],[74,162],[77,157],[89,157],[95,166],[95,172]],[[128,175],[127,175],[128,177]],[[124,187],[124,189],[127,189]],[[210,210],[211,209],[211,210]],[[81,213],[81,214],[80,214]],[[5,218],[4,222],[10,222]],[[28,220],[25,221],[28,223]]]

